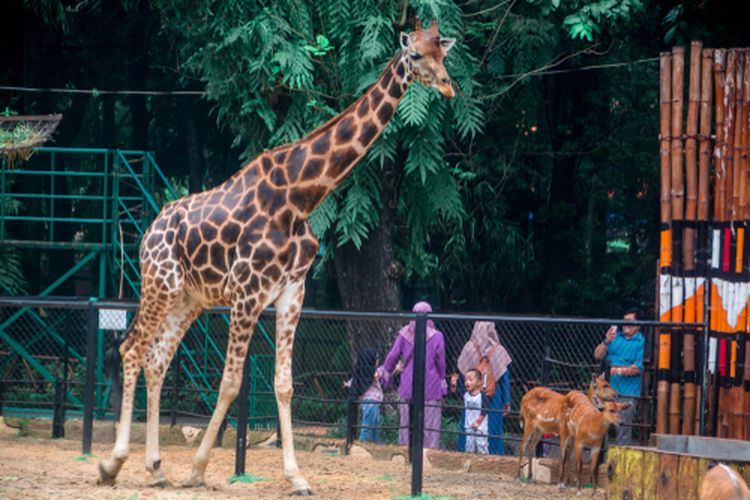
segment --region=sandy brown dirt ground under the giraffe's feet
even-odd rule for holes
[[[144,446],[133,444],[117,485],[97,486],[97,461],[109,445],[94,444],[93,456],[82,457],[80,441],[51,440],[0,434],[0,498],[76,499],[204,499],[286,498],[289,485],[281,474],[281,450],[250,449],[247,471],[265,478],[253,483],[229,483],[234,473],[234,452],[214,449],[206,471],[208,487],[154,489],[143,465]],[[184,446],[161,449],[162,469],[178,483],[187,477],[195,450]],[[318,498],[391,499],[410,493],[410,468],[404,464],[369,457],[330,456],[297,451],[297,460]],[[586,496],[591,490],[586,490]],[[433,498],[529,498],[562,499],[556,486],[525,484],[498,474],[426,470],[423,494]],[[597,496],[603,496],[603,490]]]

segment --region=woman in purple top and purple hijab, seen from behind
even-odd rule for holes
[[[412,309],[415,313],[432,312],[432,307],[427,302],[417,302]],[[393,373],[396,364],[403,360],[404,371],[401,373],[401,382],[398,386],[398,395],[401,400],[399,411],[401,413],[401,428],[398,435],[398,444],[409,443],[409,405],[411,402],[412,373],[414,370],[414,329],[416,322],[410,321],[408,325],[398,332],[396,342],[391,352],[385,358],[383,368],[388,373]],[[427,344],[425,346],[425,378],[424,378],[424,447],[440,447],[440,400],[448,392],[445,382],[445,340],[443,333],[435,328],[432,320],[427,320]]]

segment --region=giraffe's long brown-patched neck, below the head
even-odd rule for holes
[[[299,215],[309,215],[362,159],[388,125],[413,79],[411,60],[402,51],[362,97],[288,147],[289,201]]]

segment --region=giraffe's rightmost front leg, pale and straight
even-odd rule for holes
[[[274,392],[279,410],[279,426],[284,458],[284,477],[292,484],[292,495],[312,495],[312,489],[299,472],[294,456],[292,433],[292,348],[294,332],[299,322],[302,299],[305,296],[304,282],[288,287],[276,300],[276,373]]]

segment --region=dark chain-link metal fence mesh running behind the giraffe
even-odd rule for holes
[[[80,417],[87,410],[93,418],[114,418],[121,370],[116,350],[122,328],[129,323],[136,307],[135,303],[95,300],[0,299],[2,412],[54,417],[58,436],[65,418]],[[161,408],[162,418],[172,424],[207,421],[213,411],[224,365],[227,312],[216,309],[203,314],[172,361]],[[348,407],[344,382],[350,376],[356,353],[372,347],[382,360],[398,329],[414,318],[413,313],[303,310],[294,344],[295,431],[315,429],[351,442],[359,423],[356,408],[352,411]],[[610,325],[622,322],[446,314],[430,314],[429,318],[444,335],[447,377],[457,370],[458,356],[474,322],[495,322],[500,341],[512,358],[511,412],[505,418],[502,434],[506,453],[515,453],[520,439],[518,411],[523,394],[537,385],[560,391],[584,388],[592,373],[600,370],[593,358],[596,345]],[[643,396],[633,426],[636,439],[643,443],[654,421],[653,332],[659,324],[641,324],[646,338],[645,371]],[[251,428],[276,425],[274,329],[273,311],[266,311],[251,342],[246,398],[238,398],[247,401]],[[398,404],[395,390],[386,391],[381,406],[380,439],[384,443],[397,441]],[[441,448],[456,449],[461,408],[449,399],[443,401],[442,407],[442,421],[436,429],[441,431]],[[236,425],[240,408],[235,403],[230,410],[230,425]],[[134,418],[145,419],[145,410],[145,385],[141,378]]]

